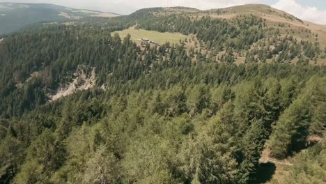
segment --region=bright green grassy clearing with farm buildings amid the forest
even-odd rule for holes
[[[132,40],[137,44],[141,43],[141,38],[147,38],[148,40],[151,40],[160,45],[166,42],[179,43],[179,40],[185,40],[185,38],[190,38],[189,36],[185,36],[180,33],[160,33],[157,31],[147,31],[144,29],[137,30],[134,29],[134,27],[131,27],[130,29],[125,29],[123,31],[115,31],[112,33],[112,36],[114,35],[114,33],[118,33],[121,38],[125,38],[127,34],[130,34]]]

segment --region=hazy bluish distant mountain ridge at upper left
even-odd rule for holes
[[[0,35],[38,22],[60,22],[82,17],[116,17],[114,13],[79,10],[46,3],[0,3]]]

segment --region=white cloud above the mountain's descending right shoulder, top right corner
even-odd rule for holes
[[[279,0],[272,7],[284,10],[302,20],[326,24],[326,11],[318,10],[316,7],[302,6],[295,0]]]

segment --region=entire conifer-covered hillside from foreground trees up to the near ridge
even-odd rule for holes
[[[211,15],[226,10],[150,8],[4,36],[0,183],[326,183],[323,36]],[[190,38],[113,34],[130,27]],[[65,89],[86,90],[53,98]],[[297,158],[286,180],[259,174],[263,151]]]

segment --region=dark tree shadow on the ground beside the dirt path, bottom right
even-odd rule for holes
[[[251,183],[267,183],[272,180],[275,174],[276,166],[273,163],[267,162],[259,164],[256,174],[251,177]]]

